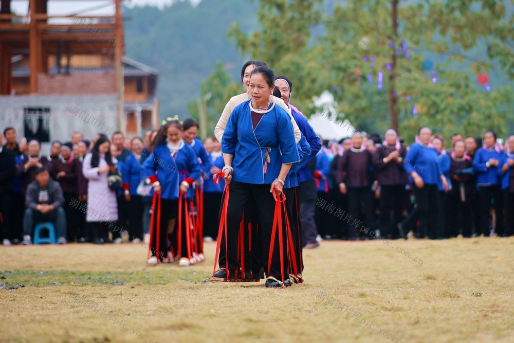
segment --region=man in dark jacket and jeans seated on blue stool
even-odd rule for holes
[[[51,222],[57,230],[57,243],[66,242],[66,213],[63,209],[64,195],[61,185],[50,178],[46,167],[35,170],[35,180],[27,187],[25,194],[25,215],[23,218],[23,243],[32,244],[30,234],[35,223]]]

